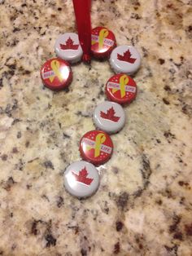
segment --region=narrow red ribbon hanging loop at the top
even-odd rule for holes
[[[91,24],[90,6],[91,0],[72,0],[76,15],[76,26],[79,41],[83,50],[83,61],[90,63]]]

